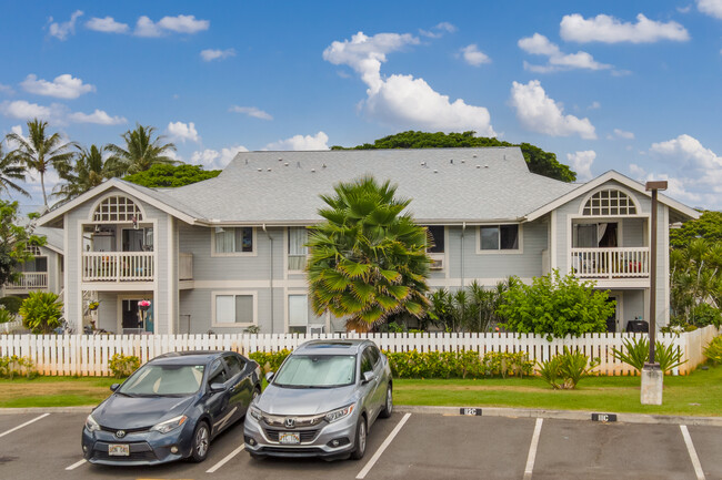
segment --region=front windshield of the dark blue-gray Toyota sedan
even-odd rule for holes
[[[203,380],[203,365],[146,365],[118,389],[130,397],[187,396]]]

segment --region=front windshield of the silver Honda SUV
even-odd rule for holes
[[[332,388],[353,384],[354,355],[291,355],[273,385],[291,388]]]

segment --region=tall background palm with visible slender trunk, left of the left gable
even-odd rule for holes
[[[40,174],[40,187],[42,188],[42,201],[48,208],[48,194],[46,193],[46,172],[50,167],[56,168],[59,174],[70,170],[70,162],[76,155],[70,151],[72,142],[63,143],[59,133],[48,135],[46,129],[48,122],[38,119],[28,121],[28,139],[17,133],[9,133],[6,139],[18,144],[18,149],[10,152],[27,168],[34,170]]]

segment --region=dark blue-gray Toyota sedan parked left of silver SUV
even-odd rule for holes
[[[88,416],[82,449],[91,463],[203,461],[210,442],[261,392],[261,370],[231,351],[156,357]]]

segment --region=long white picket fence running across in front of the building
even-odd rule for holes
[[[704,361],[702,349],[720,333],[714,327],[676,335],[660,335],[688,361],[673,374],[686,375]],[[548,341],[534,335],[514,334],[273,334],[273,335],[0,335],[0,357],[30,357],[42,375],[107,376],[114,354],[134,355],[141,362],[168,351],[233,350],[243,355],[254,351],[292,350],[310,339],[368,338],[389,351],[524,351],[534,361],[544,361],[564,347],[579,349],[600,359],[594,371],[600,375],[635,375],[635,370],[612,356],[622,349],[624,339],[646,334],[588,334],[579,338]]]

